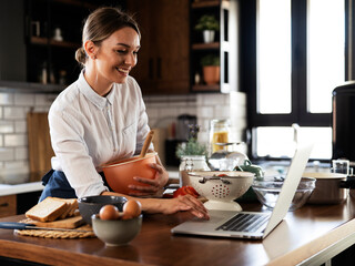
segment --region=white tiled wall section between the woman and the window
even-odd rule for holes
[[[243,141],[246,127],[246,96],[242,92],[230,94],[199,93],[185,96],[144,98],[151,127],[166,127],[176,123],[180,114],[197,116],[199,141],[209,142],[212,119],[230,119],[235,141]]]

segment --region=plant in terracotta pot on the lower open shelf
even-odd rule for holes
[[[203,80],[207,85],[214,85],[220,82],[220,57],[206,54],[201,59]]]

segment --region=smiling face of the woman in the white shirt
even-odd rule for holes
[[[98,74],[103,81],[124,83],[136,64],[140,38],[130,27],[113,32],[102,41],[95,59]]]

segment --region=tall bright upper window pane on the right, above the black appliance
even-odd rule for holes
[[[344,13],[342,0],[308,0],[307,91],[311,113],[331,113],[332,91],[345,81]]]

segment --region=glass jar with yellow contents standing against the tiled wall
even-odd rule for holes
[[[225,149],[225,145],[217,145],[217,144],[229,142],[230,129],[231,129],[231,122],[227,119],[211,121],[211,125],[210,125],[211,154]]]

